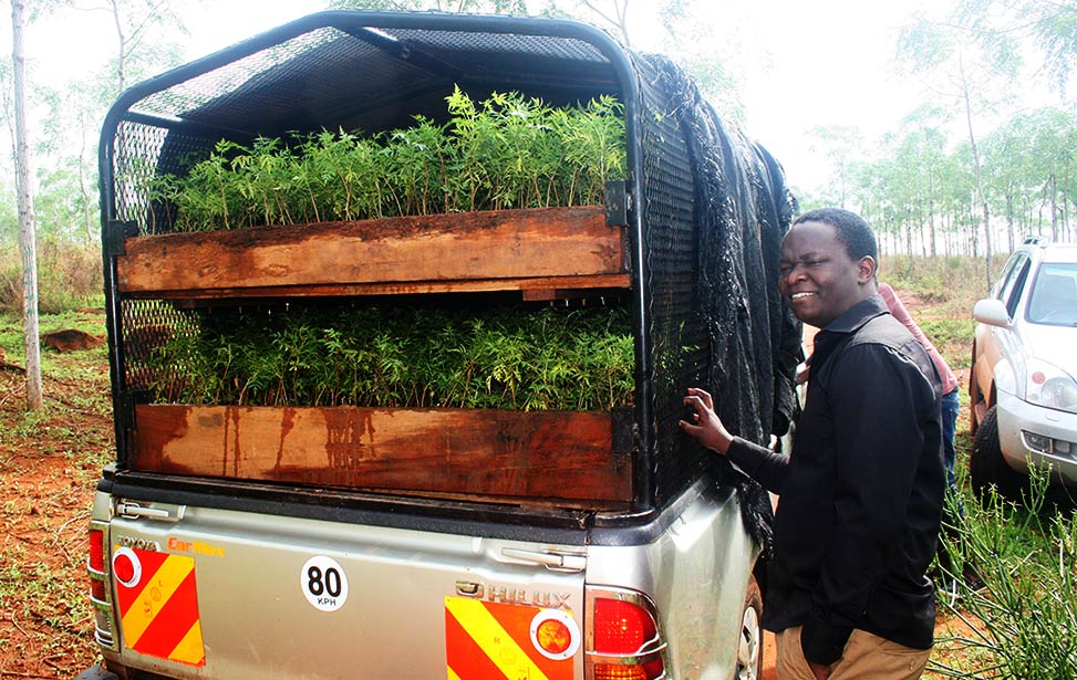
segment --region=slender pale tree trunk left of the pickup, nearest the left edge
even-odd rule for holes
[[[15,186],[19,245],[22,249],[22,335],[27,349],[27,408],[41,408],[41,345],[38,339],[38,253],[34,242],[33,172],[27,132],[27,57],[22,46],[24,0],[11,0],[11,61],[14,66]]]

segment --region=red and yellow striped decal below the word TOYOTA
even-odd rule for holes
[[[139,576],[116,579],[124,644],[139,653],[205,666],[195,559],[133,548]]]

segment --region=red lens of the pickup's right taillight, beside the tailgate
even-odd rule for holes
[[[594,680],[654,680],[665,672],[654,617],[644,607],[624,599],[594,599],[593,653],[628,657],[620,663],[599,661]]]

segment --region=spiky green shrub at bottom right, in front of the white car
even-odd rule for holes
[[[954,678],[1077,677],[1077,515],[1071,498],[1057,498],[1049,474],[1031,469],[1019,503],[991,494],[950,506],[957,517],[944,532],[956,598],[942,601],[972,632],[942,640],[975,659],[976,668],[933,662]],[[963,511],[963,514],[962,514]],[[982,587],[970,587],[975,573]],[[977,586],[980,584],[976,584]]]

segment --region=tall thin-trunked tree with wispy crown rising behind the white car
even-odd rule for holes
[[[899,38],[899,63],[921,79],[925,100],[947,103],[964,121],[976,179],[976,202],[984,234],[984,273],[991,282],[991,209],[975,122],[1013,93],[1021,60],[1016,43],[1000,38],[984,43],[961,17],[918,18]]]

